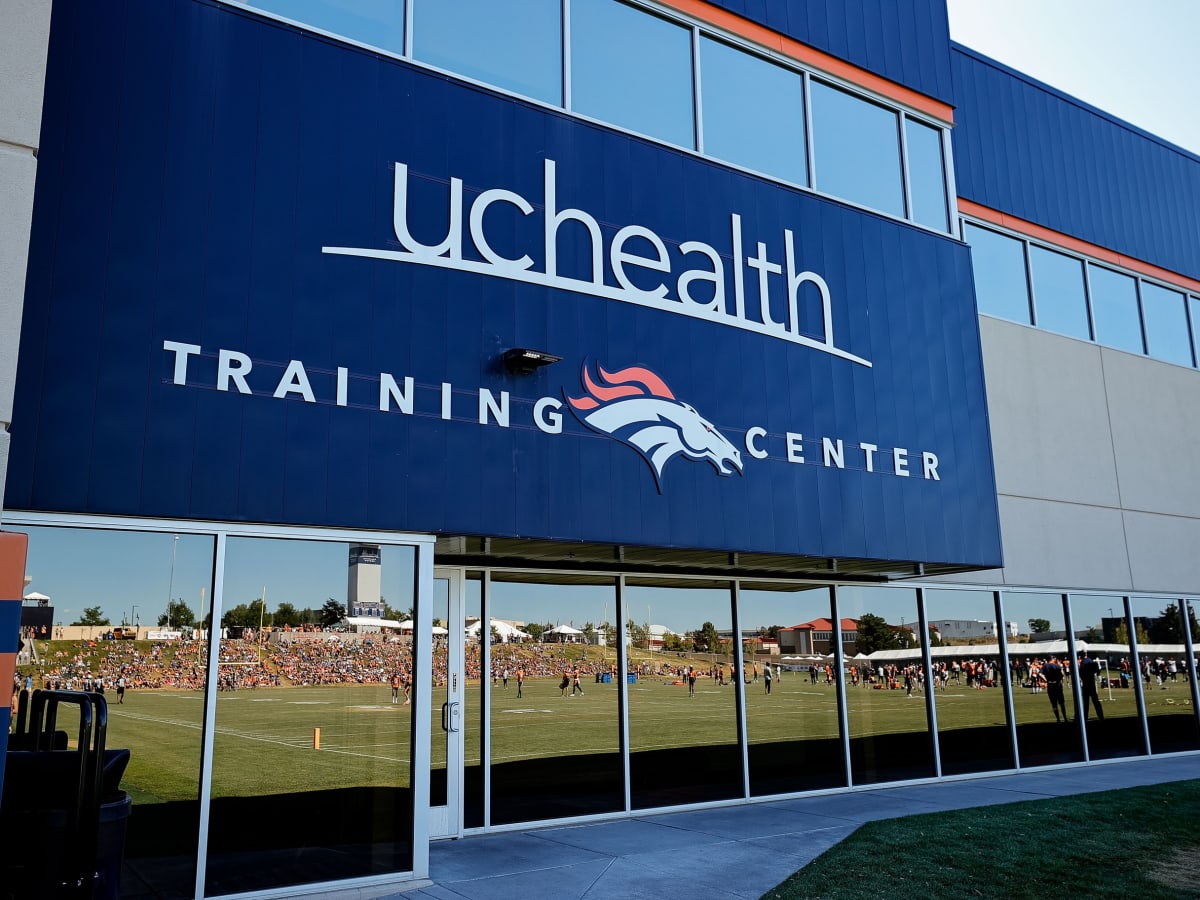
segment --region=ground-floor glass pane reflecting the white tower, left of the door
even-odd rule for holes
[[[415,704],[390,686],[412,685],[412,632],[348,630],[346,613],[409,618],[415,557],[227,541],[206,893],[412,869]]]

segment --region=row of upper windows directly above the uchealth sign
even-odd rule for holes
[[[406,54],[404,0],[244,1]],[[941,128],[692,26],[623,0],[412,0],[409,13],[420,62],[950,230]]]

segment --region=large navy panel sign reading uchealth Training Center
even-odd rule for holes
[[[1002,562],[961,242],[246,10],[53,10],[6,506]]]

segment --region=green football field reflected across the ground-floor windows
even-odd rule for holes
[[[667,680],[631,684],[631,749],[727,744],[736,738],[732,686],[702,678],[695,698]],[[468,685],[463,727],[467,762],[479,760],[479,690]],[[496,763],[529,758],[583,756],[618,746],[617,685],[583,684],[584,695],[562,696],[557,678],[526,680],[523,697],[516,679],[509,688],[486,688],[492,697],[492,758]],[[568,694],[570,691],[568,690]],[[764,684],[749,684],[746,730],[751,743],[821,739],[838,734],[834,689],[809,683],[808,676],[785,673],[767,696]],[[1102,690],[1108,716],[1134,716],[1133,690]],[[394,706],[385,685],[271,688],[222,692],[217,697],[214,794],[254,796],[348,786],[408,784],[409,713]],[[437,691],[434,691],[437,697]],[[1184,682],[1168,690],[1147,689],[1151,715],[1190,714]],[[941,731],[979,725],[1003,725],[1003,695],[998,689],[967,690],[950,684],[937,691]],[[904,690],[847,688],[853,736],[924,731],[925,703]],[[1074,715],[1073,700],[1067,704]],[[439,762],[440,701],[432,710],[434,764]],[[1018,689],[1019,724],[1052,721],[1049,700]],[[203,698],[192,691],[130,691],[126,702],[109,706],[108,745],[130,748],[132,758],[124,786],[137,803],[194,799],[199,781]],[[320,728],[320,750],[313,731]],[[445,749],[440,748],[444,764]]]

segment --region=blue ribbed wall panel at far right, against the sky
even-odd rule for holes
[[[959,196],[1200,277],[1200,158],[954,47]]]

